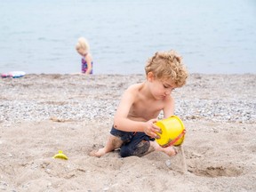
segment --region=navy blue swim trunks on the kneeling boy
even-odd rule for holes
[[[124,141],[120,149],[120,156],[143,156],[150,147],[150,138],[144,132],[124,132],[112,127],[110,133]]]

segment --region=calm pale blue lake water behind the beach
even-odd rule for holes
[[[193,73],[256,73],[255,0],[0,0],[0,73],[80,71],[89,40],[94,74],[144,73],[174,49]]]

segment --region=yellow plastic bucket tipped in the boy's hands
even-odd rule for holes
[[[186,129],[179,116],[170,116],[161,121],[157,121],[162,133],[157,133],[161,138],[156,142],[166,148],[168,146],[180,146],[185,138]]]

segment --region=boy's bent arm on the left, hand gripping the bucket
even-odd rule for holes
[[[133,121],[128,118],[130,108],[134,102],[134,96],[131,87],[128,88],[119,103],[114,117],[114,127],[124,132],[145,132],[148,136],[156,138],[156,132],[160,129],[154,125],[156,119],[151,119],[148,122]]]

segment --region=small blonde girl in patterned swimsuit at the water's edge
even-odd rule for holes
[[[92,74],[92,54],[90,53],[90,45],[84,37],[78,38],[76,51],[82,56],[82,74]]]

